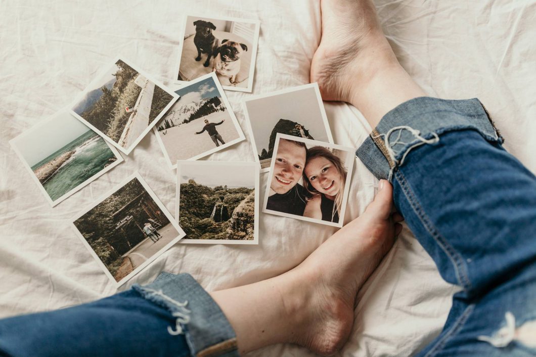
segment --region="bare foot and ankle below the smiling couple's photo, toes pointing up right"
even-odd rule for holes
[[[358,219],[278,277],[211,293],[233,326],[240,353],[294,343],[330,355],[346,342],[355,297],[389,251],[402,220],[391,215],[392,187],[383,189]]]

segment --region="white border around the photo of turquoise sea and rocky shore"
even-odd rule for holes
[[[46,124],[48,124],[49,122],[53,121],[58,115],[60,115],[61,113],[65,113],[65,114],[68,114],[68,115],[71,115],[71,113],[69,113],[69,110],[68,109],[63,109],[63,110],[60,110],[60,111],[57,111],[56,113],[54,113],[53,115],[50,115],[48,116],[47,118],[45,118],[44,120],[42,120],[41,122],[33,125],[33,127],[25,130],[23,133],[21,133],[19,136],[17,137],[14,137],[13,139],[9,140],[9,143],[11,145],[11,147],[13,148],[13,151],[17,153],[17,156],[19,157],[20,161],[23,162],[23,166],[28,169],[30,175],[32,176],[32,180],[38,185],[39,187],[39,190],[42,192],[42,194],[44,195],[44,197],[47,199],[47,202],[50,204],[50,206],[54,207],[56,206],[58,203],[62,202],[63,200],[69,198],[70,196],[74,195],[76,192],[78,192],[79,190],[83,189],[84,187],[86,187],[88,184],[92,183],[93,181],[95,181],[97,178],[99,178],[100,176],[104,175],[105,173],[107,173],[109,170],[113,169],[114,167],[116,167],[117,165],[119,165],[120,163],[122,163],[124,161],[123,157],[121,156],[121,154],[119,153],[119,151],[112,145],[110,145],[107,140],[105,140],[105,143],[106,145],[108,145],[108,147],[110,148],[111,152],[114,153],[115,157],[117,158],[117,160],[115,160],[114,162],[110,163],[110,165],[108,165],[107,167],[103,168],[102,170],[100,170],[98,173],[96,173],[95,175],[91,176],[90,178],[88,178],[86,181],[80,183],[77,187],[69,190],[68,192],[65,192],[65,194],[63,194],[61,197],[58,197],[56,198],[55,200],[53,200],[52,198],[50,198],[50,195],[48,194],[47,190],[44,189],[43,185],[41,184],[41,182],[39,181],[39,178],[37,178],[37,176],[35,176],[35,173],[33,172],[32,168],[29,166],[28,162],[26,161],[26,159],[24,158],[24,155],[20,152],[18,146],[17,146],[17,142],[21,139],[24,139],[24,137],[26,137],[28,135],[29,132],[35,130],[35,129],[39,129],[41,127],[44,127]],[[73,120],[76,120],[75,118],[73,118]],[[91,128],[88,128],[88,129],[91,129]],[[92,129],[93,130],[93,129]]]

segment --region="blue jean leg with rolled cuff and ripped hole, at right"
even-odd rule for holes
[[[536,179],[501,143],[478,101],[417,98],[388,113],[357,152],[391,178],[408,227],[463,288],[422,355],[536,351],[516,338],[536,321]],[[497,344],[499,331],[508,338]]]

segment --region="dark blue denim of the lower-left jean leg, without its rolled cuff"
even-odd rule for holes
[[[2,356],[190,355],[184,334],[172,336],[169,312],[132,290],[76,307],[0,320]]]

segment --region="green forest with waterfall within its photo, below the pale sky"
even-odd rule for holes
[[[185,239],[253,240],[255,189],[181,183],[179,224]]]

